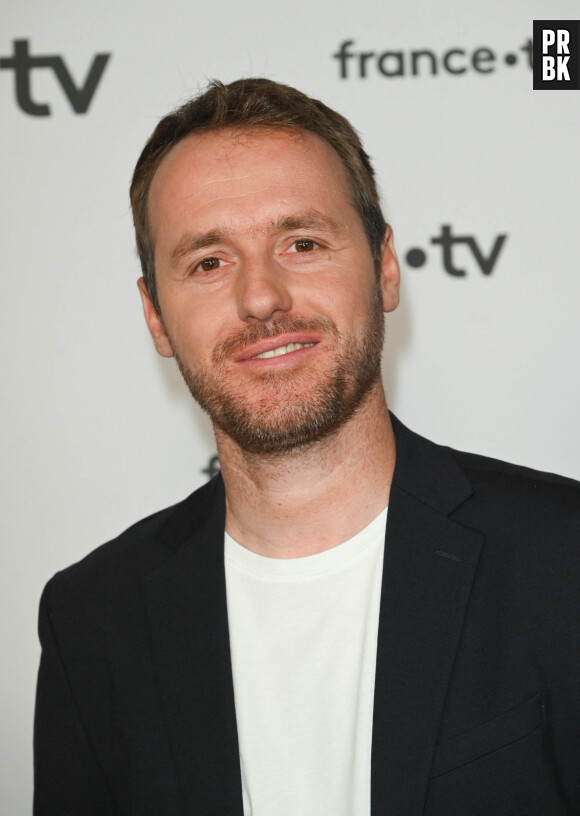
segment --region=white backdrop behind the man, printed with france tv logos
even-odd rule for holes
[[[128,183],[157,119],[207,79],[244,75],[349,117],[402,261],[384,365],[391,408],[436,441],[579,478],[580,93],[534,92],[521,50],[534,18],[579,10],[576,0],[4,0],[3,815],[31,807],[42,586],[191,492],[214,453],[173,362],[155,355],[135,285]],[[81,87],[95,55],[110,54],[88,111],[73,110],[50,67],[6,64],[15,40],[32,57],[60,56]],[[345,41],[354,56],[342,78],[332,55]],[[450,49],[463,73],[444,67]],[[433,56],[413,75],[419,50]],[[22,110],[27,81],[50,115]],[[465,275],[449,274],[431,243],[443,225],[484,256],[506,235],[492,272],[456,243],[451,263]],[[407,262],[411,249],[422,266]]]

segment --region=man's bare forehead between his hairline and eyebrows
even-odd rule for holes
[[[254,128],[192,134],[162,160],[149,191],[157,237],[183,218],[275,218],[296,207],[343,210],[357,218],[336,151],[315,134]],[[229,225],[231,226],[231,225]]]

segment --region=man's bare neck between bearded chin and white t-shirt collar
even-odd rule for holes
[[[330,549],[388,504],[395,438],[380,382],[339,431],[289,454],[249,454],[215,431],[226,530],[260,555],[297,558]]]

